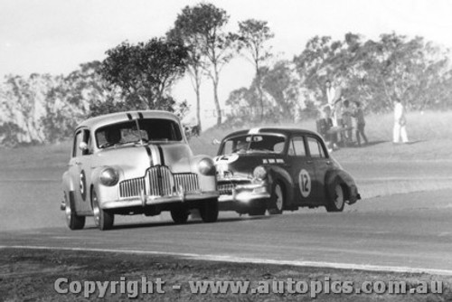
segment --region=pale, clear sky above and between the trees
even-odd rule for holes
[[[0,0],[0,77],[33,72],[67,74],[80,63],[103,60],[120,42],[163,36],[190,0]],[[211,0],[230,14],[227,29],[246,19],[268,21],[275,38],[268,45],[279,59],[302,52],[309,38],[361,33],[420,35],[452,48],[452,0]],[[221,73],[220,99],[248,87],[253,66],[236,58]],[[174,87],[174,97],[193,104],[190,80]],[[212,125],[212,83],[202,83],[202,116]]]

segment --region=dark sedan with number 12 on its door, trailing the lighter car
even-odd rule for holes
[[[214,159],[220,209],[250,215],[325,206],[342,212],[360,199],[353,177],[315,132],[262,127],[233,132]]]

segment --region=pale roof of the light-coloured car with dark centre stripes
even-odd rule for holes
[[[127,121],[129,119],[137,119],[137,118],[166,118],[173,119],[174,121],[179,122],[179,118],[175,116],[173,113],[163,110],[137,110],[137,111],[123,111],[116,113],[109,113],[105,115],[101,115],[95,118],[88,118],[80,123],[77,128],[80,127],[89,127],[89,128],[97,128],[106,126],[109,124],[116,124],[122,121]]]

